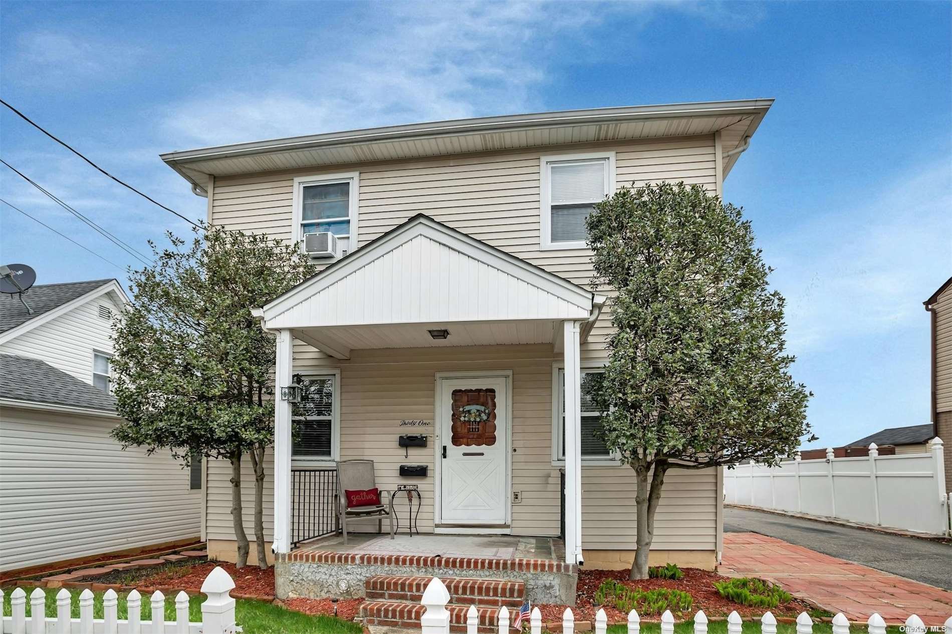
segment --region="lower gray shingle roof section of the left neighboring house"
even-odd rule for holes
[[[39,359],[0,354],[0,398],[115,411],[115,400]]]

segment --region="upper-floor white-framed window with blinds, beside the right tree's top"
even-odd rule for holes
[[[585,248],[585,218],[615,189],[615,153],[542,157],[542,248]]]

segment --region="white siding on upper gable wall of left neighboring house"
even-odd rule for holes
[[[4,354],[40,359],[84,383],[92,383],[92,352],[110,353],[111,322],[99,316],[99,307],[112,313],[119,307],[109,293],[54,317],[0,346]]]

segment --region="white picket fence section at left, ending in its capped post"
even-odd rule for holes
[[[10,615],[3,615],[3,634],[231,634],[242,628],[235,624],[235,600],[228,592],[235,583],[228,573],[215,566],[202,584],[208,599],[202,604],[202,622],[188,621],[188,594],[175,597],[175,623],[166,623],[166,597],[156,590],[149,601],[152,620],[143,621],[142,596],[132,590],[126,597],[128,617],[118,618],[119,595],[115,590],[103,593],[103,618],[93,619],[93,594],[89,589],[79,595],[79,618],[70,616],[72,595],[66,588],[56,594],[56,616],[46,615],[47,593],[43,588],[30,592],[30,618],[27,618],[27,593],[23,588],[10,592]],[[4,593],[0,590],[0,605]]]

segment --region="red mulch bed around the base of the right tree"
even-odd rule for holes
[[[576,621],[594,621],[595,613],[599,605],[594,604],[595,591],[606,579],[614,579],[623,582],[629,587],[637,587],[643,590],[653,590],[659,587],[665,587],[673,590],[684,590],[694,599],[694,605],[688,613],[675,614],[675,619],[689,619],[694,616],[698,610],[704,610],[708,617],[727,616],[732,610],[742,617],[760,616],[764,613],[764,608],[749,607],[747,605],[735,604],[728,599],[724,599],[718,594],[714,587],[714,582],[724,581],[728,577],[699,570],[697,568],[682,568],[684,578],[679,581],[669,579],[645,579],[644,581],[628,581],[627,570],[579,570],[579,584],[576,594],[576,606],[572,608]],[[628,615],[613,605],[602,605],[605,608],[605,614],[608,616],[608,623],[625,623]],[[781,604],[777,609],[771,610],[774,616],[796,616],[800,612],[811,609],[811,605],[794,599],[788,604]],[[544,623],[561,622],[562,614],[565,612],[565,605],[544,604],[539,605],[542,611],[542,620]],[[640,615],[643,619],[658,620],[661,615]]]

